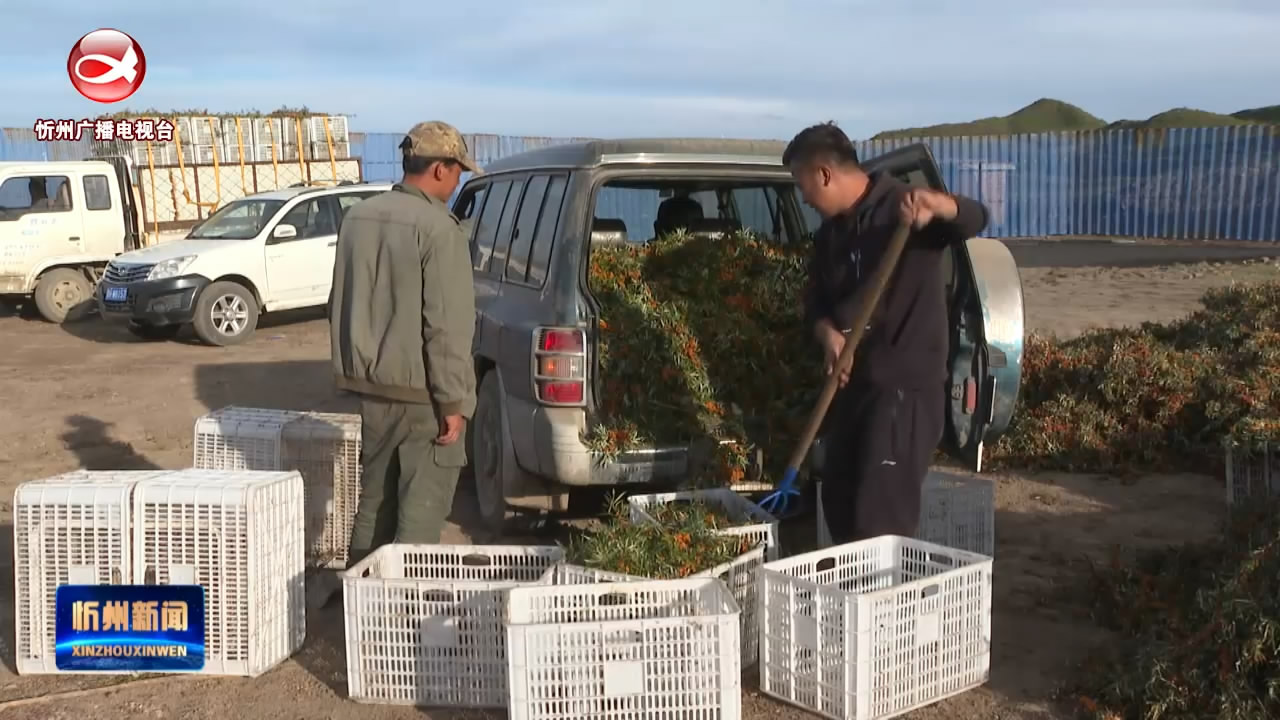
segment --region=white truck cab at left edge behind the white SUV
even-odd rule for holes
[[[148,237],[125,158],[0,163],[0,300],[35,297],[54,323],[93,309],[93,287],[122,252],[182,237]]]

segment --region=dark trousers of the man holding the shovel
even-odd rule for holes
[[[822,507],[836,544],[915,536],[920,492],[942,439],[943,389],[847,386],[823,446]]]

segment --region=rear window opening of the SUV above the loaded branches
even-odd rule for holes
[[[750,231],[778,245],[818,229],[795,183],[777,179],[614,179],[595,200],[593,241],[649,242],[684,229]]]

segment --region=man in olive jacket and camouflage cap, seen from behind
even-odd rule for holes
[[[360,506],[348,566],[390,543],[436,543],[466,465],[475,411],[475,291],[466,233],[449,211],[462,136],[419,123],[404,179],[343,218],[329,299],[338,389],[360,396]]]

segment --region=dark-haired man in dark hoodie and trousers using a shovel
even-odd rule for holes
[[[805,292],[805,323],[841,391],[827,421],[823,497],[836,543],[911,537],[929,460],[942,439],[947,379],[947,306],[942,254],[987,225],[968,197],[867,174],[833,123],[805,128],[782,161],[822,217]],[[854,297],[876,270],[901,222],[911,224],[897,272],[863,334],[850,373],[836,359],[852,329]]]

